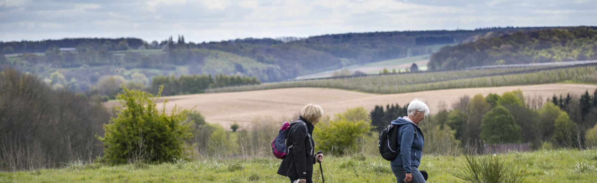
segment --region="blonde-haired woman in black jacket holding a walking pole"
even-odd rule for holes
[[[311,135],[323,115],[321,106],[309,104],[301,110],[296,122],[290,125],[286,136],[288,154],[278,168],[278,174],[288,176],[291,183],[312,183],[313,164],[321,162],[324,154],[313,154],[315,142]]]

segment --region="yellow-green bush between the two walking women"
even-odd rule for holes
[[[342,156],[357,152],[357,141],[371,129],[371,125],[363,120],[349,121],[344,116],[336,115],[329,124],[319,123],[313,130],[316,147],[324,152]]]

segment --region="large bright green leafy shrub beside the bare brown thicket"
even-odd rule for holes
[[[122,107],[116,107],[118,116],[104,125],[106,133],[99,139],[106,147],[102,160],[108,163],[170,162],[184,158],[184,140],[192,137],[189,124],[182,125],[189,114],[178,106],[170,112],[164,108],[158,112],[153,95],[141,90],[122,86],[116,99]]]

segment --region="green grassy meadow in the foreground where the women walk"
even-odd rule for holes
[[[490,155],[491,156],[491,155]],[[597,150],[538,150],[496,154],[512,165],[525,182],[595,182]],[[463,156],[423,156],[420,170],[427,182],[461,181],[447,171],[462,168]],[[281,161],[273,157],[179,160],[161,165],[82,165],[63,169],[1,172],[0,182],[290,182],[276,174]],[[326,182],[395,182],[389,162],[378,156],[325,157]],[[316,166],[315,166],[316,167]],[[314,168],[319,173],[319,168]],[[316,174],[315,173],[315,174]],[[314,182],[321,182],[318,175]]]

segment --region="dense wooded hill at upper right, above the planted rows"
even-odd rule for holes
[[[430,70],[597,59],[597,27],[519,31],[446,46],[433,53]]]

